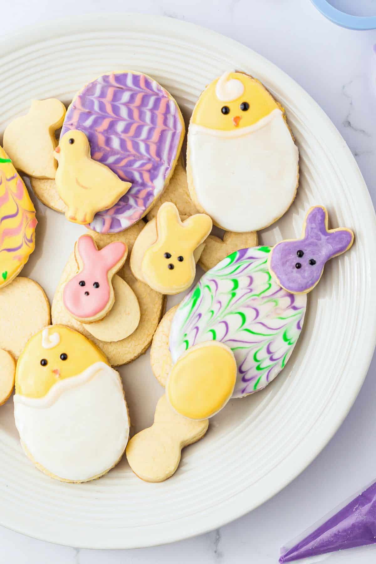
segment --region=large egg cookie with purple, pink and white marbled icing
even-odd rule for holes
[[[132,183],[89,227],[100,233],[127,229],[144,217],[175,168],[184,137],[178,104],[146,74],[103,74],[70,104],[61,136],[71,129],[86,134],[92,158]]]

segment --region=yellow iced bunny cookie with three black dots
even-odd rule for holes
[[[144,280],[163,294],[178,294],[191,286],[196,275],[194,250],[209,235],[209,215],[180,220],[176,206],[166,202],[158,210],[157,240],[145,251],[141,263]]]

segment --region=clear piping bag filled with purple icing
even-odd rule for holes
[[[376,482],[355,493],[281,548],[280,564],[318,562],[324,554],[376,544]],[[313,558],[316,557],[316,558]]]

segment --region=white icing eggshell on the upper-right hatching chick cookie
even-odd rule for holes
[[[188,147],[199,204],[228,231],[258,231],[294,199],[298,149],[280,109],[232,131],[190,124]]]

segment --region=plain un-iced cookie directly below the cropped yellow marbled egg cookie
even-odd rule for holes
[[[15,360],[29,338],[50,322],[50,303],[34,280],[17,276],[0,289],[0,349]]]

